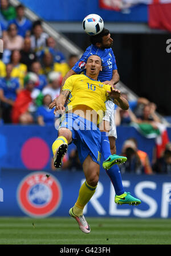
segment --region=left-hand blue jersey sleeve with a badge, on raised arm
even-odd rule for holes
[[[91,55],[91,49],[92,49],[92,45],[89,46],[86,49],[86,52],[83,53],[82,57],[79,59],[78,62],[76,62],[76,64],[73,66],[72,70],[77,73],[80,74],[84,71],[85,66],[86,66],[86,62],[88,57]]]

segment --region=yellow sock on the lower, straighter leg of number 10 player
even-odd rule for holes
[[[83,208],[95,194],[96,187],[89,186],[87,181],[80,187],[78,199],[73,207],[73,212],[76,216],[83,215]]]

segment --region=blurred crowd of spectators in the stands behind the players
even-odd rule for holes
[[[0,37],[4,51],[0,60],[0,125],[52,125],[54,110],[48,105],[60,93],[62,78],[79,60],[76,55],[68,60],[58,50],[54,38],[43,31],[41,21],[32,23],[25,17],[25,7],[16,8],[8,0],[1,0]],[[128,98],[125,93],[125,97]],[[146,124],[157,131],[162,124],[156,115],[156,105],[148,99],[129,101],[129,110],[116,109],[116,125]],[[135,138],[123,145],[122,155],[128,160],[120,166],[121,172],[135,174],[171,174],[171,143],[166,141],[153,163],[140,151]],[[52,167],[53,168],[53,167]],[[78,152],[73,149],[64,157],[63,170],[79,170]]]

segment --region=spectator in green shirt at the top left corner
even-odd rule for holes
[[[9,0],[1,0],[1,13],[7,21],[16,17],[15,8],[9,4]]]

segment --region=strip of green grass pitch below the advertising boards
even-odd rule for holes
[[[72,218],[0,218],[1,245],[170,245],[170,219],[87,218],[91,233]]]

